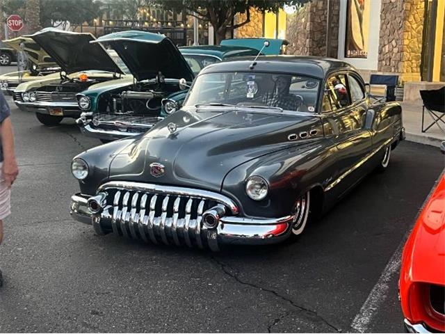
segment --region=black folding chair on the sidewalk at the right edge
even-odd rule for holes
[[[439,122],[445,125],[445,121],[442,119],[445,116],[445,86],[439,89],[421,90],[420,96],[423,101],[422,132],[427,132],[432,125],[437,125],[437,127],[445,133],[445,129],[439,125]],[[432,123],[426,128],[423,125],[425,121],[425,111],[428,111],[432,118]]]

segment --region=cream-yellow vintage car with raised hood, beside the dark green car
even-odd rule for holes
[[[76,94],[97,84],[133,82],[118,54],[106,50],[90,33],[42,29],[29,35],[51,56],[60,71],[39,80],[19,84],[13,94],[22,111],[35,113],[44,125],[57,125],[63,118],[79,118]]]

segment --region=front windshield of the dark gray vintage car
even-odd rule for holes
[[[314,113],[320,81],[298,74],[252,72],[198,76],[184,106],[229,104]]]

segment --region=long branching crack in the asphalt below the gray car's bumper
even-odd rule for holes
[[[245,280],[242,280],[241,278],[239,278],[238,275],[236,275],[235,273],[232,273],[231,271],[229,271],[229,269],[227,269],[229,267],[227,264],[221,262],[220,260],[218,260],[214,256],[211,256],[211,260],[213,260],[214,262],[216,262],[216,264],[218,264],[218,266],[221,268],[223,273],[225,273],[227,276],[229,276],[229,277],[233,278],[234,280],[236,280],[236,282],[238,282],[238,283],[240,283],[242,285],[247,285],[249,287],[253,287],[254,289],[259,289],[261,291],[269,292],[270,294],[273,294],[274,296],[276,296],[277,298],[281,299],[282,301],[285,301],[286,303],[289,303],[293,308],[296,308],[298,311],[304,312],[306,315],[309,315],[309,317],[313,317],[313,318],[318,319],[318,321],[323,322],[323,324],[329,326],[330,328],[332,328],[336,332],[341,332],[340,328],[337,328],[336,326],[330,324],[329,321],[327,321],[326,319],[321,317],[321,315],[318,315],[318,313],[316,311],[310,310],[309,308],[305,308],[305,307],[303,307],[301,305],[297,305],[292,299],[290,299],[289,297],[286,297],[286,296],[282,296],[282,294],[276,292],[273,289],[260,287],[259,285],[256,285],[254,283],[250,283],[250,282],[247,282]],[[233,268],[231,268],[231,269],[234,270]],[[272,322],[272,324],[270,324],[268,326],[268,333],[270,333],[270,331],[272,330],[273,326],[275,326],[278,323],[280,323],[280,321],[282,321],[282,319],[284,319],[285,317],[287,317],[291,313],[292,313],[291,311],[287,311],[287,312],[283,313],[282,315],[280,315],[280,317],[277,317]]]

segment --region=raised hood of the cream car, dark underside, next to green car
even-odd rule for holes
[[[44,49],[67,72],[102,70],[122,73],[122,70],[99,44],[91,45],[90,33],[73,33],[58,29],[43,29],[28,36]]]

